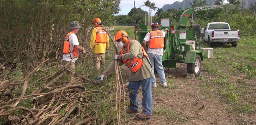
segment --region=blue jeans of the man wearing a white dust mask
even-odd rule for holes
[[[152,115],[152,93],[151,93],[151,78],[140,81],[129,81],[128,90],[130,92],[130,109],[133,111],[139,110],[138,90],[142,88],[142,102],[143,113]]]

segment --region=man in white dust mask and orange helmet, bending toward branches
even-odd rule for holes
[[[150,118],[152,116],[151,77],[153,74],[148,56],[141,44],[136,40],[129,40],[128,34],[123,30],[116,33],[115,41],[118,42],[119,47],[122,47],[120,54],[113,57],[114,61],[98,77],[97,81],[100,82],[105,76],[115,71],[115,60],[118,60],[120,66],[125,64],[131,70],[128,86],[130,108],[126,110],[126,113],[138,113],[138,90],[141,86],[143,95],[141,105],[143,111],[137,114],[136,117]]]

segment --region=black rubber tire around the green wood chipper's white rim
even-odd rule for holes
[[[199,70],[196,72],[195,71],[195,67],[196,67],[196,64],[195,64],[195,62],[198,60],[198,62],[199,62]],[[190,73],[190,74],[194,74],[195,76],[199,76],[200,75],[200,73],[201,73],[201,67],[202,67],[202,61],[201,61],[201,57],[198,55],[198,54],[196,54],[196,59],[195,59],[195,62],[194,63],[188,63],[187,64],[187,71],[188,71],[188,73]]]

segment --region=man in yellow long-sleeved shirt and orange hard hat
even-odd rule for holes
[[[95,43],[98,45],[89,49],[89,53],[93,53],[94,70],[99,72],[100,66],[104,67],[105,54],[109,54],[109,35],[103,30],[100,18],[92,21],[95,28],[92,31],[90,46]]]

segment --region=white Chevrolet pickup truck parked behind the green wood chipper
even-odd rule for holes
[[[240,39],[239,30],[231,30],[227,22],[211,22],[201,30],[205,30],[202,42],[207,41],[209,46],[212,46],[213,43],[231,43],[233,47],[237,47],[237,42]]]

